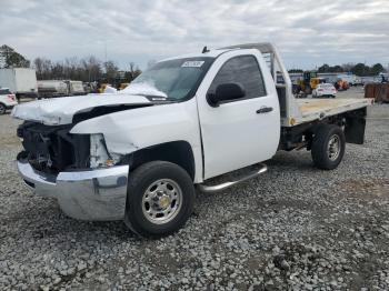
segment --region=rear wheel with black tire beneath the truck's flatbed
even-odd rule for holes
[[[338,151],[335,142],[339,146]],[[332,147],[329,143],[332,143]],[[311,155],[317,168],[333,170],[338,167],[345,155],[346,138],[341,128],[333,124],[321,124],[317,128]],[[337,152],[337,153],[336,153]]]

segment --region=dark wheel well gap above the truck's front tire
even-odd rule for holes
[[[194,157],[189,142],[171,141],[156,144],[130,153],[124,162],[130,164],[130,171],[151,161],[168,161],[183,168],[190,178],[194,179]]]

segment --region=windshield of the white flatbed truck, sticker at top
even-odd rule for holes
[[[180,101],[194,94],[213,58],[186,58],[158,62],[122,92],[143,94],[152,100]]]

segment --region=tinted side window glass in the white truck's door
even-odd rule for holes
[[[216,88],[222,83],[240,83],[246,91],[245,99],[266,96],[262,73],[252,56],[228,60],[215,77],[208,93],[215,93]]]

